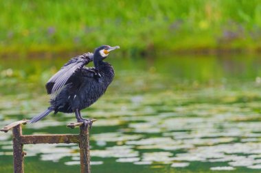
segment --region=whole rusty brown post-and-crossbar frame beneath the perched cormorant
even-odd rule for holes
[[[14,173],[23,173],[23,144],[58,144],[76,143],[80,148],[80,172],[91,173],[90,152],[89,152],[89,127],[84,127],[82,123],[70,123],[67,127],[80,126],[80,134],[54,134],[54,135],[22,135],[21,124],[28,120],[21,120],[5,126],[0,131],[8,132],[12,129],[13,149],[14,149]],[[95,120],[92,120],[95,121]]]

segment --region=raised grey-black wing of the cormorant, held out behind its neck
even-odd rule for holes
[[[54,76],[47,81],[45,88],[47,94],[55,94],[67,84],[68,79],[84,65],[93,60],[93,53],[84,53],[78,57],[73,57]]]

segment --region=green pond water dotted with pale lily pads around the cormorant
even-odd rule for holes
[[[48,106],[45,82],[65,57],[1,57],[0,127]],[[92,172],[260,172],[259,55],[113,58],[115,80],[82,112]],[[47,116],[24,134],[78,133],[73,114]],[[0,133],[0,172],[12,172],[12,133]],[[26,145],[25,172],[79,172],[74,144]]]

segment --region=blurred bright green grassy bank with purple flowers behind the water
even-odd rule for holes
[[[261,49],[258,0],[1,1],[1,53]]]

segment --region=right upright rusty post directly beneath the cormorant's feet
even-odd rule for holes
[[[80,172],[91,173],[90,148],[89,148],[89,127],[80,126],[79,135],[80,147]]]

